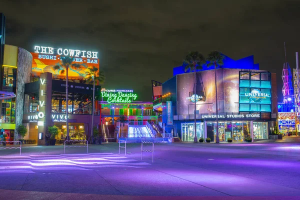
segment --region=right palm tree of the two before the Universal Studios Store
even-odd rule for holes
[[[215,114],[216,114],[216,130],[215,130],[215,143],[219,143],[219,136],[218,136],[218,116],[217,116],[217,88],[216,88],[216,67],[223,65],[223,60],[225,56],[219,51],[212,51],[207,55],[207,61],[209,63],[207,66],[214,65],[214,87],[215,87]]]

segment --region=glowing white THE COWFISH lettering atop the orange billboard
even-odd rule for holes
[[[95,51],[86,51],[86,50],[75,50],[68,48],[57,48],[54,50],[53,47],[48,46],[34,46],[35,53],[43,53],[43,54],[52,54],[52,55],[64,55],[64,56],[74,56],[81,58],[98,58],[98,52]]]

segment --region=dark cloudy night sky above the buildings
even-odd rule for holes
[[[85,3],[84,3],[85,2]],[[99,52],[107,89],[130,88],[151,100],[151,79],[164,82],[185,55],[219,50],[254,55],[260,69],[295,67],[300,51],[300,0],[0,0],[6,44]]]

